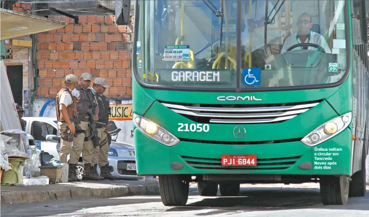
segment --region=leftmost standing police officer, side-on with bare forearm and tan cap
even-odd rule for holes
[[[72,90],[76,87],[78,78],[74,74],[65,77],[65,86],[56,94],[55,108],[56,120],[60,134],[59,160],[67,163],[67,155],[71,151],[73,134],[75,132],[74,121],[77,118],[77,100],[72,95]],[[79,180],[76,176],[76,167],[69,166],[68,181]]]

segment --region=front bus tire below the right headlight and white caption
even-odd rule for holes
[[[349,177],[320,178],[320,197],[323,205],[346,205],[349,200]]]

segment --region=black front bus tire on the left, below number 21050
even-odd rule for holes
[[[188,200],[189,179],[182,175],[159,176],[159,190],[164,206],[184,206]]]

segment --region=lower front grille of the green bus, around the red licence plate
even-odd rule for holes
[[[257,166],[245,167],[224,167],[221,165],[220,158],[203,158],[181,156],[186,163],[195,169],[204,170],[285,170],[293,166],[301,156],[280,157],[280,158],[261,158],[257,159]]]

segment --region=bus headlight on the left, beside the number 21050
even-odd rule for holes
[[[144,117],[133,114],[133,120],[137,129],[161,144],[174,146],[180,142],[172,133]]]

